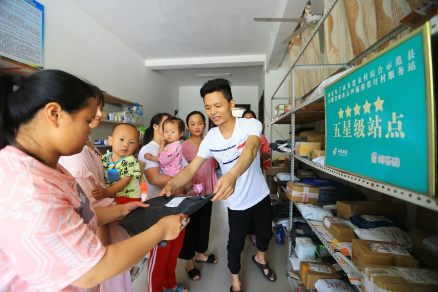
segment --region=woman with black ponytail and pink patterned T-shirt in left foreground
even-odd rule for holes
[[[95,235],[141,202],[95,210],[58,164],[80,153],[97,111],[91,87],[60,70],[0,75],[0,290],[97,291],[163,239],[181,232],[167,216],[127,240],[103,246]]]

